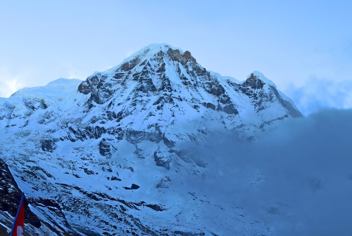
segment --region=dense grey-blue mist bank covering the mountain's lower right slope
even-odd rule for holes
[[[351,121],[352,110],[325,109],[271,126],[255,141],[228,132],[188,145],[212,166],[209,181],[190,184],[279,222],[270,235],[350,235]]]

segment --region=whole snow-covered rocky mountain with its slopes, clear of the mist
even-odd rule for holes
[[[255,141],[300,116],[260,72],[240,82],[167,44],[83,82],[20,89],[0,98],[0,232],[23,191],[32,236],[267,235],[274,220],[253,223],[245,208],[189,183],[212,178],[221,158],[184,146],[223,132]]]

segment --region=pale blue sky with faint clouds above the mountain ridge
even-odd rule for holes
[[[0,0],[0,97],[85,79],[163,42],[222,75],[258,70],[283,91],[351,81],[351,11],[350,1]]]

